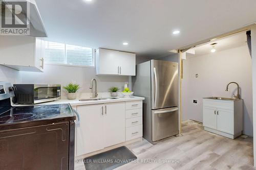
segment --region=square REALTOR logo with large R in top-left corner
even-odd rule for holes
[[[27,1],[1,1],[0,7],[0,35],[30,34]]]

